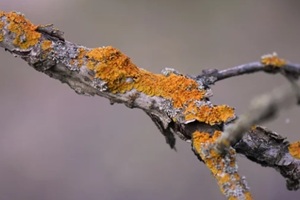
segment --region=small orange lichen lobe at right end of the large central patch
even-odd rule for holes
[[[232,118],[234,118],[234,109],[227,105],[203,105],[198,107],[191,103],[185,110],[185,119],[187,121],[197,119],[210,125],[225,122]]]

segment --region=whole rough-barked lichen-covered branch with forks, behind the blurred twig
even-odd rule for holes
[[[299,65],[282,64],[279,59],[279,64],[284,65],[279,69],[273,69],[273,64],[268,64],[270,60],[266,60],[229,70],[204,71],[196,78],[172,69],[153,74],[135,66],[116,48],[76,45],[66,41],[52,25],[34,25],[15,12],[0,12],[0,46],[37,71],[67,83],[78,94],[102,96],[112,104],[123,103],[144,110],[171,148],[175,148],[174,134],[192,140],[193,151],[229,199],[251,199],[244,178],[237,173],[235,151],[278,170],[288,180],[289,189],[299,188],[300,145],[298,148],[298,143],[289,144],[278,134],[254,128],[230,147],[226,155],[215,151],[223,125],[233,122],[235,114],[233,108],[213,105],[209,100],[209,85],[216,81],[270,69],[298,77]]]

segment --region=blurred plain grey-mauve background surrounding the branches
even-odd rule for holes
[[[300,63],[300,1],[2,0],[69,41],[112,45],[139,67],[184,74],[256,61],[276,51]],[[0,49],[0,200],[225,199],[205,165],[177,140],[170,150],[140,110],[77,95]],[[287,81],[257,73],[219,82],[215,104],[243,113]],[[299,140],[300,109],[265,126]],[[238,157],[255,199],[299,199],[274,169]]]

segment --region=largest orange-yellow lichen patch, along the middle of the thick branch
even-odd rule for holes
[[[92,50],[80,49],[77,62],[87,59],[87,67],[95,72],[95,78],[107,82],[112,93],[124,93],[132,89],[149,96],[170,99],[175,108],[183,108],[185,120],[198,120],[213,125],[234,117],[234,110],[226,105],[199,106],[206,93],[198,83],[185,76],[153,74],[135,66],[126,55],[111,46]]]

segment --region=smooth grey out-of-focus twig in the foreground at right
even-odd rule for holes
[[[264,94],[255,98],[250,109],[240,116],[236,122],[225,127],[221,137],[217,141],[216,149],[224,153],[230,146],[238,142],[252,126],[272,119],[283,108],[295,105],[298,101],[298,93],[295,86],[284,86],[274,89],[270,94]],[[298,91],[298,90],[297,90]]]

